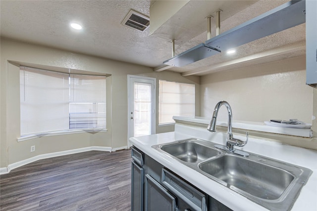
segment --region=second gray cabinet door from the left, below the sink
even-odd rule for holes
[[[175,211],[176,199],[163,186],[146,174],[145,180],[145,210]]]

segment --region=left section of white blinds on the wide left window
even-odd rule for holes
[[[21,135],[68,129],[68,74],[20,70]]]

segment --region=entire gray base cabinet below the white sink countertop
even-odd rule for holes
[[[132,147],[131,211],[231,211]]]

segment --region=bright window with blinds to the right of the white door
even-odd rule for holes
[[[159,80],[159,124],[174,123],[173,116],[195,116],[195,84]]]

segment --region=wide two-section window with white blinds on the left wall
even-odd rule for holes
[[[21,136],[106,128],[106,77],[20,68]]]

